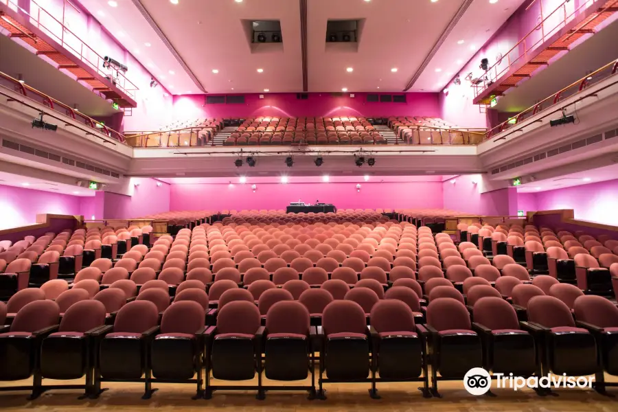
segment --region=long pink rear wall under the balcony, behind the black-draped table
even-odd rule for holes
[[[332,203],[347,208],[442,208],[441,182],[411,183],[251,183],[244,185],[198,183],[172,185],[171,210],[285,209],[299,199],[305,203]]]

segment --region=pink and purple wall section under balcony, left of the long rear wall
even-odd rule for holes
[[[133,185],[135,183],[139,185]],[[133,185],[132,196],[103,192],[102,218],[140,218],[170,211],[170,184],[148,178],[133,178],[130,184]]]

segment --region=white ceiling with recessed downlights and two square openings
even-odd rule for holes
[[[80,0],[174,94],[201,93],[134,2]],[[439,91],[525,0],[474,0],[411,91]],[[308,91],[402,91],[464,0],[309,0]],[[299,2],[141,0],[209,93],[303,89]],[[104,15],[103,17],[100,17]],[[251,53],[241,21],[275,20],[283,50]],[[357,52],[326,51],[329,19],[364,19]],[[122,36],[121,36],[122,34]],[[457,41],[464,40],[463,45]],[[145,47],[150,43],[150,47]],[[347,67],[354,71],[349,73]],[[264,69],[258,73],[257,69]],[[391,69],[396,68],[396,73]],[[213,73],[212,70],[218,70]],[[436,69],[441,69],[437,72]],[[174,75],[170,75],[170,70]],[[452,77],[452,76],[451,76]]]

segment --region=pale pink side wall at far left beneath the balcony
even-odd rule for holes
[[[0,185],[0,229],[36,223],[37,214],[80,214],[82,197]]]

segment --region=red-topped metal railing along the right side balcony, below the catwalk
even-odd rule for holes
[[[510,119],[502,122],[498,126],[494,126],[494,128],[488,130],[488,132],[485,134],[485,139],[491,139],[492,137],[494,137],[494,135],[497,135],[498,133],[501,133],[508,128],[516,126],[517,124],[520,124],[521,122],[523,122],[523,120],[528,119],[529,117],[532,117],[540,113],[541,111],[545,111],[546,109],[559,104],[563,100],[570,98],[573,95],[576,95],[577,93],[584,92],[586,88],[590,87],[592,84],[600,82],[601,80],[606,80],[607,78],[616,76],[617,74],[618,60],[614,60],[604,65],[603,67],[600,67],[599,69],[593,71],[592,73],[587,74],[583,78],[580,78],[580,80],[569,84],[569,86],[560,89],[558,92],[547,96],[547,98],[534,104],[534,106],[530,106],[529,108],[525,109],[525,111],[518,113],[518,115],[511,117]]]

